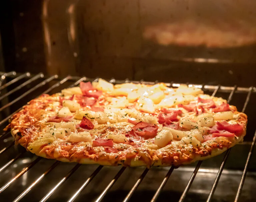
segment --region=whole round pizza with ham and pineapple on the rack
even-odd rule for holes
[[[242,142],[247,116],[200,88],[103,79],[31,100],[13,115],[15,143],[65,162],[179,166]]]

